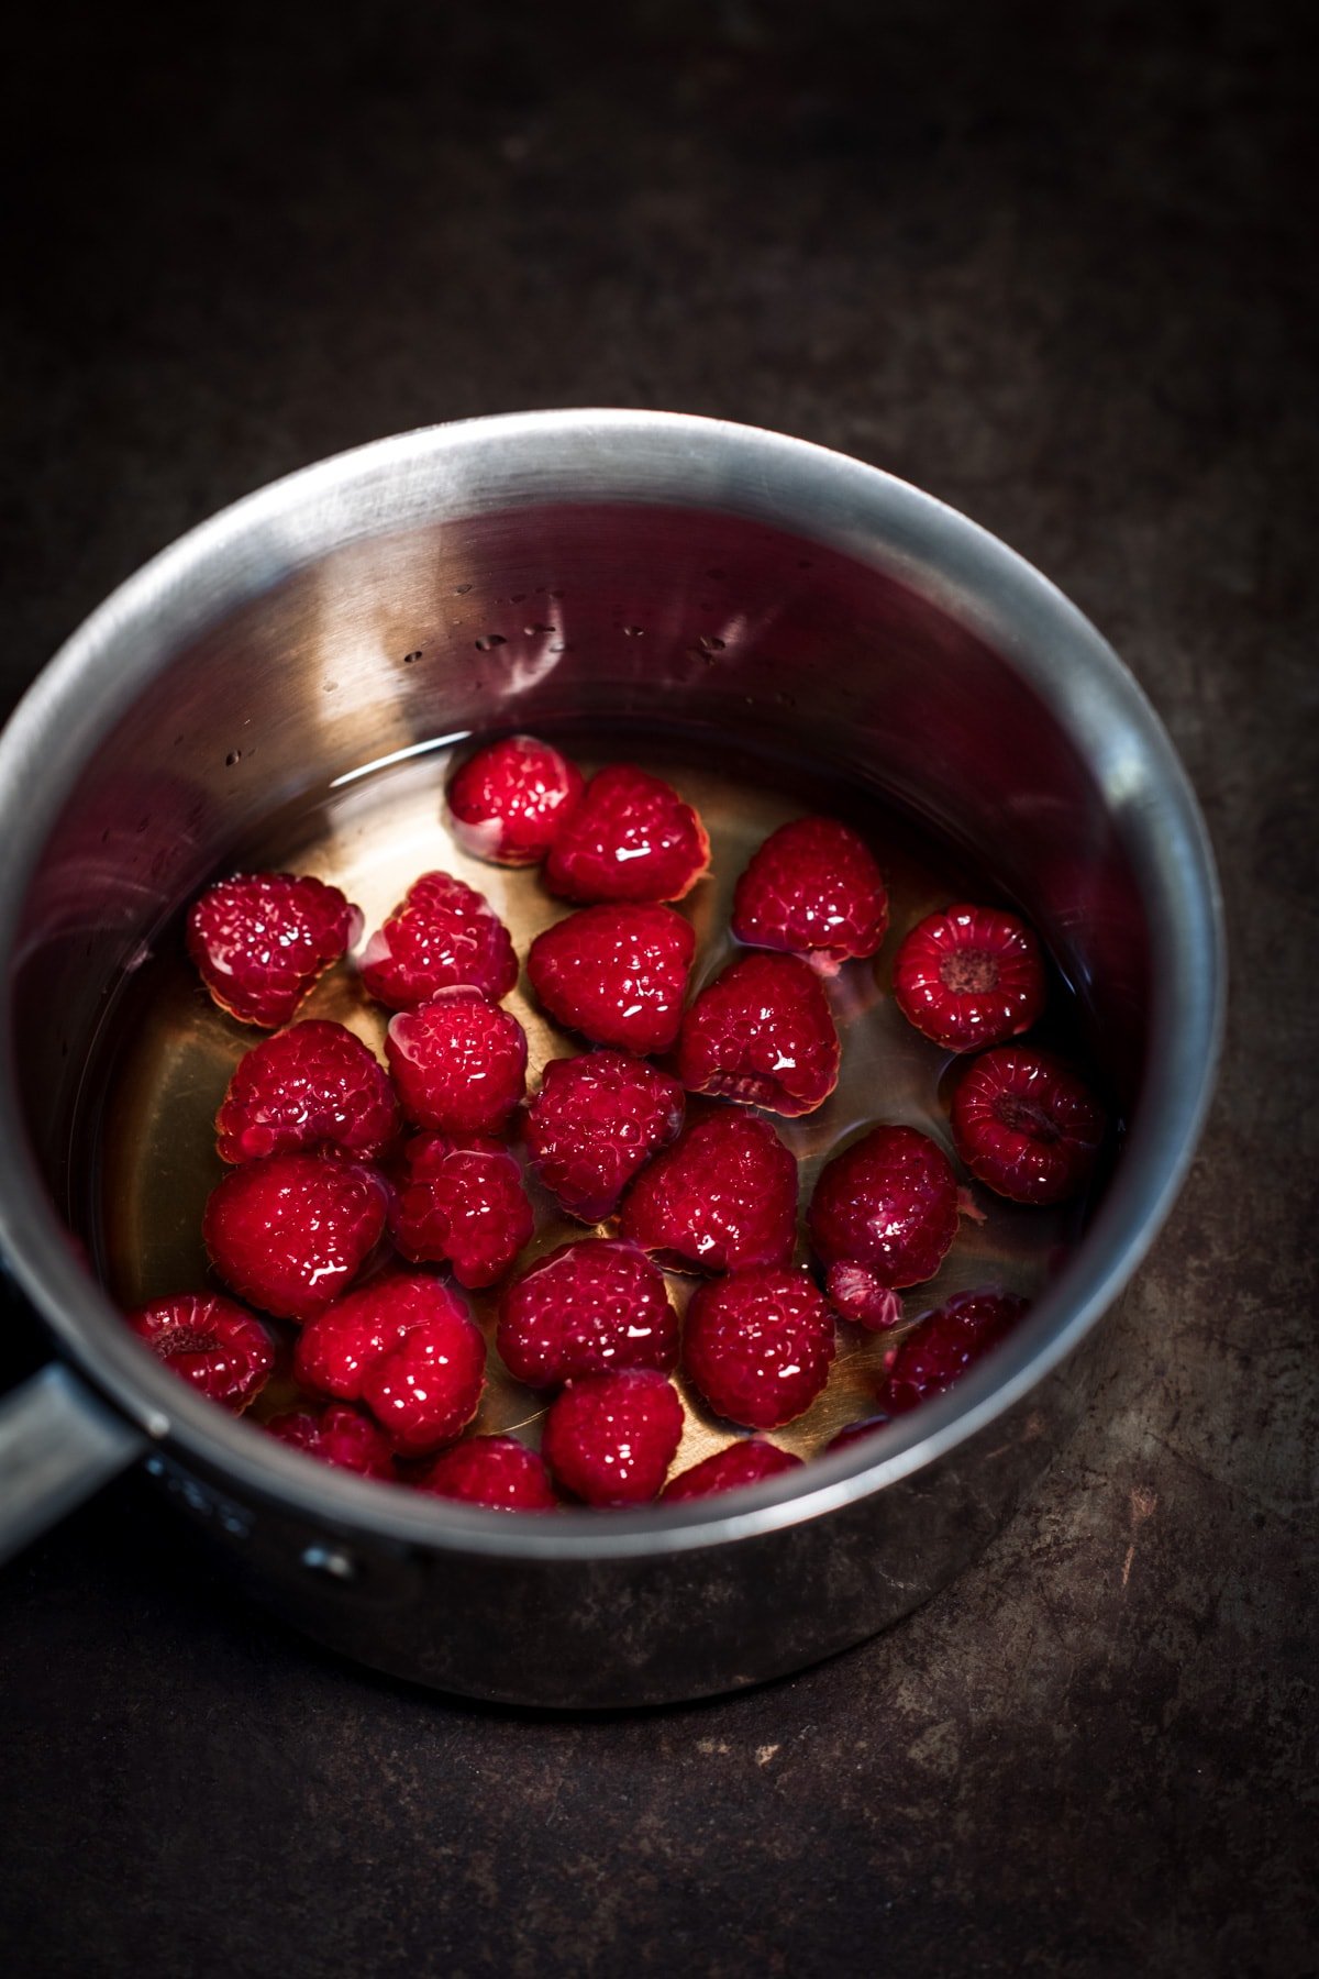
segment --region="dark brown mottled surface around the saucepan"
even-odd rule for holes
[[[69,1520],[0,1581],[18,1969],[1313,1971],[1289,10],[223,18],[51,16],[18,65],[10,699],[178,530],[376,433],[556,404],[777,425],[965,509],[1109,633],[1204,801],[1236,993],[1119,1409],[833,1664],[655,1716],[483,1712],[267,1625],[132,1484]],[[16,1322],[10,1373],[34,1352]]]

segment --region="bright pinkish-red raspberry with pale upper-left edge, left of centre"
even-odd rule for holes
[[[526,1092],[526,1031],[481,990],[441,990],[399,1011],[386,1059],[415,1126],[498,1134]]]

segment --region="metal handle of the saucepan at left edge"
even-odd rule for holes
[[[0,1565],[140,1457],[146,1437],[63,1362],[0,1399]]]

